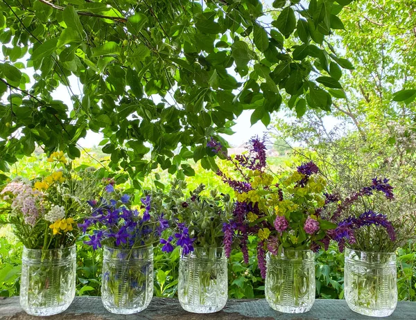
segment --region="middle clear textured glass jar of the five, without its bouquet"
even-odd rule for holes
[[[228,298],[227,258],[223,248],[196,248],[187,256],[180,254],[180,305],[195,313],[217,312]]]

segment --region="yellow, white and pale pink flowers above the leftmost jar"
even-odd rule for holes
[[[62,151],[47,161],[50,175],[15,179],[0,192],[0,224],[12,224],[28,249],[71,247],[79,233],[76,222],[88,211],[85,200],[101,188],[95,168],[72,168]]]

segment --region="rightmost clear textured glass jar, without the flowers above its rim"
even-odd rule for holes
[[[345,249],[344,295],[352,311],[387,317],[397,305],[395,254]]]

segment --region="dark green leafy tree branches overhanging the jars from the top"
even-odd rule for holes
[[[157,166],[193,175],[182,162],[197,150],[196,161],[216,170],[207,138],[231,133],[243,109],[267,125],[285,91],[304,99],[299,115],[306,105],[330,109],[331,91],[313,79],[322,73],[340,87],[329,64],[352,68],[324,42],[347,2],[275,1],[270,27],[259,0],[2,1],[0,94],[9,96],[0,104],[0,170],[36,145],[79,157],[89,130],[103,134],[108,166],[135,186]],[[71,105],[52,97],[60,86]]]

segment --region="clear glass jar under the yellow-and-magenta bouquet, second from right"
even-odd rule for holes
[[[302,313],[315,302],[315,254],[311,250],[282,250],[268,254],[266,300],[274,310]]]

